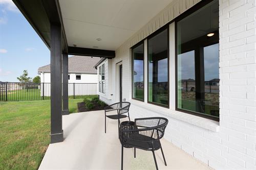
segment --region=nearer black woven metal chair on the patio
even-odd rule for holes
[[[136,157],[136,148],[145,151],[152,151],[156,169],[158,169],[155,151],[161,149],[165,166],[167,166],[160,139],[164,135],[168,119],[164,117],[136,118],[135,128],[127,130],[120,127],[120,142],[122,144],[121,169],[123,169],[123,148],[134,148],[134,157]]]

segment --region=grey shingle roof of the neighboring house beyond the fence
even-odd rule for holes
[[[69,57],[69,73],[97,74],[94,65],[100,61],[99,57],[72,56]],[[38,72],[51,72],[50,64],[39,67]]]

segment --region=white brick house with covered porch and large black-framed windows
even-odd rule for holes
[[[256,168],[255,0],[13,1],[51,48],[53,78],[60,51],[105,57],[100,100],[130,102],[132,119],[168,118],[165,139],[212,168]],[[189,79],[195,89],[182,90]],[[213,79],[219,90],[206,91]],[[52,143],[67,133],[54,85]]]

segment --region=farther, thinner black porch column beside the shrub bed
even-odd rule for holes
[[[62,81],[63,81],[63,110],[62,114],[69,114],[69,57],[68,54],[62,54]]]

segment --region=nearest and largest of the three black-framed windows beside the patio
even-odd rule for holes
[[[176,22],[177,110],[219,120],[219,4]]]

